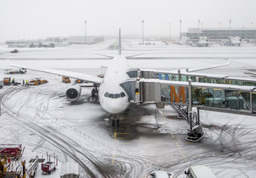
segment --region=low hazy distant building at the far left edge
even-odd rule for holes
[[[37,47],[41,43],[40,40],[37,41],[6,41],[9,48],[33,48]]]

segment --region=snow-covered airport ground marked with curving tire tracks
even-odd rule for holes
[[[217,177],[255,177],[256,117],[201,111],[205,124],[205,139],[200,143],[185,140],[189,126],[170,109],[155,109],[154,105],[133,106],[120,130],[110,126],[107,113],[99,103],[89,100],[91,88],[83,88],[79,101],[70,106],[64,93],[69,84],[61,77],[28,71],[25,75],[4,75],[15,64],[34,67],[67,69],[97,75],[105,71],[110,59],[94,53],[115,56],[116,40],[91,46],[74,45],[65,48],[11,48],[0,46],[0,79],[15,77],[21,82],[35,77],[49,80],[39,86],[4,86],[0,90],[1,143],[22,143],[27,162],[46,151],[59,158],[57,171],[36,177],[57,178],[61,164],[76,161],[80,177],[147,177],[151,171],[162,169],[184,177],[191,165],[210,166]],[[123,41],[123,54],[146,53],[129,59],[131,68],[184,69],[207,67],[233,58],[231,65],[209,69],[207,73],[232,77],[255,78],[256,46],[152,46],[139,41]],[[119,134],[118,134],[119,133]]]

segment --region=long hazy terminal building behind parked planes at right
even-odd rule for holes
[[[210,41],[221,41],[229,38],[229,28],[203,28],[200,29],[199,35],[210,38]],[[183,33],[182,36],[189,37],[191,40],[199,39],[198,28],[189,28],[188,32]],[[239,36],[242,39],[254,41],[256,28],[232,27],[231,36]]]

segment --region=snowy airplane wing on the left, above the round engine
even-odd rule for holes
[[[75,78],[75,79],[79,79],[79,80],[83,80],[83,81],[87,81],[87,82],[93,82],[93,83],[96,83],[96,84],[99,84],[100,82],[102,82],[101,77],[97,77],[97,76],[94,76],[94,75],[81,74],[81,73],[78,73],[78,72],[70,72],[70,71],[57,70],[57,69],[36,69],[34,67],[26,67],[26,66],[15,65],[15,64],[9,64],[9,66],[20,67],[20,68],[23,68],[23,69],[35,70],[35,71],[38,71],[38,72],[45,72],[45,73],[53,74],[53,75],[71,77],[71,78]]]

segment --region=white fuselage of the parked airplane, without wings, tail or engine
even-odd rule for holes
[[[110,114],[119,114],[125,111],[130,102],[120,83],[128,79],[126,71],[130,69],[125,56],[118,55],[112,59],[110,66],[99,86],[99,103]]]

